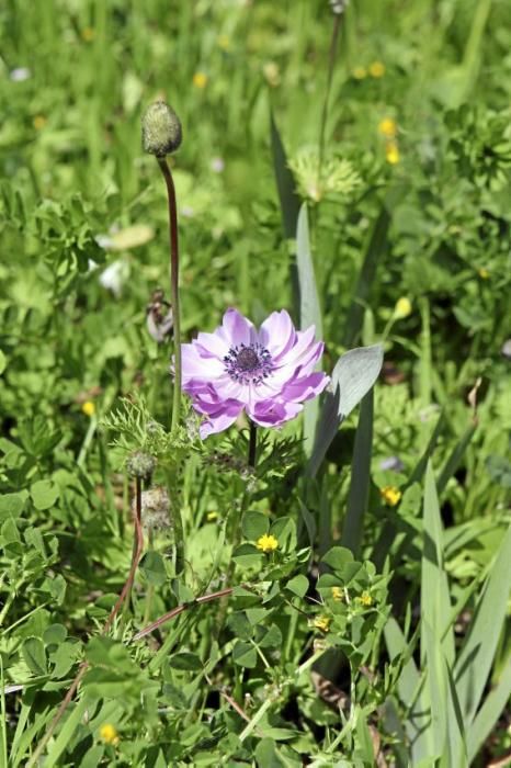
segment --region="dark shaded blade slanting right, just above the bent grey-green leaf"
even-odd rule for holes
[[[390,216],[384,206],[379,213],[365,251],[353,298],[348,310],[343,345],[352,347],[360,338],[364,319],[364,305],[370,298],[371,286],[376,276],[377,263],[385,252]]]

